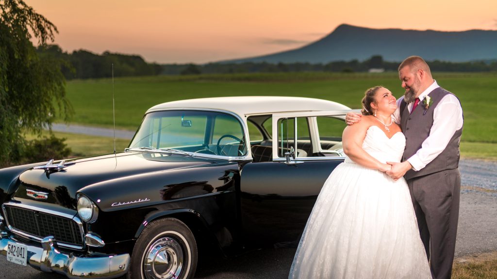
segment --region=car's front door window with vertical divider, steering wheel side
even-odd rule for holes
[[[307,117],[278,120],[278,157],[285,157],[285,153],[290,151],[291,147],[296,150],[296,157],[312,156],[312,143]]]

